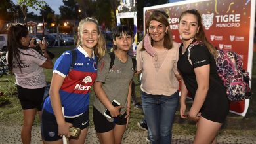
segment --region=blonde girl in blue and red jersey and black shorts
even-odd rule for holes
[[[78,37],[73,69],[70,69],[70,51],[64,52],[54,64],[50,96],[43,103],[41,131],[44,143],[62,143],[63,135],[70,137],[70,126],[81,129],[81,134],[77,139],[69,139],[69,143],[85,143],[89,92],[96,79],[97,60],[104,56],[106,44],[95,18],[79,22]]]

